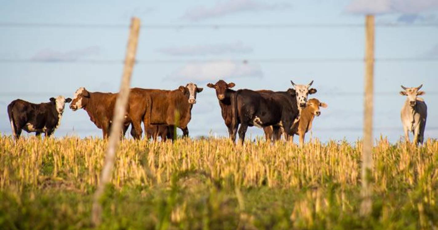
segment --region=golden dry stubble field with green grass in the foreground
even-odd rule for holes
[[[0,136],[0,228],[92,228],[107,142]],[[123,140],[102,229],[433,229],[438,141],[373,150],[373,210],[360,206],[361,143]]]

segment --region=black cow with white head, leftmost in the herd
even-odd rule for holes
[[[58,96],[50,98],[50,102],[40,104],[21,99],[12,101],[7,106],[7,113],[15,139],[20,137],[21,130],[36,132],[36,136],[42,132],[46,137],[52,135],[61,123],[66,102],[71,102],[71,98]]]

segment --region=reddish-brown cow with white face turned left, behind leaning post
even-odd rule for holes
[[[83,108],[97,128],[102,129],[103,138],[108,138],[117,95],[113,93],[89,92],[85,87],[80,87],[74,93],[70,108],[73,111]],[[127,110],[129,110],[129,105]],[[131,123],[127,114],[124,118],[123,136]]]

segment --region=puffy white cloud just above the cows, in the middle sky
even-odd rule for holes
[[[168,79],[218,80],[228,77],[262,77],[259,64],[231,60],[189,63],[172,73]]]

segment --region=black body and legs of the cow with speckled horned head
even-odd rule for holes
[[[290,127],[298,117],[297,98],[294,89],[287,91],[252,91],[238,90],[234,97],[233,127],[240,121],[239,138],[244,143],[248,126],[263,128],[273,125],[283,127],[286,140],[289,137]],[[236,137],[236,132],[233,137]]]

